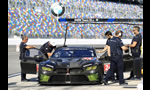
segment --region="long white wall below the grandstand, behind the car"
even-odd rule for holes
[[[105,45],[107,39],[67,39],[66,45]],[[29,39],[28,45],[42,45],[47,41],[54,41],[56,45],[63,45],[64,39]],[[124,44],[130,44],[131,39],[122,39]],[[8,38],[8,45],[19,45],[21,38]]]

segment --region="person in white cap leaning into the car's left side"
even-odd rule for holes
[[[47,58],[49,58],[53,54],[53,50],[55,50],[55,48],[55,42],[48,41],[41,46],[40,51],[43,52]]]

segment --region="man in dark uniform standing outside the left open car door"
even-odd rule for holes
[[[27,51],[30,48],[35,48],[34,46],[29,46],[26,43],[28,42],[28,37],[27,36],[22,36],[22,42],[20,43],[20,56],[19,59],[21,60],[20,66],[21,66],[21,81],[29,81],[26,79],[26,73],[22,72],[22,65],[24,64],[23,62],[25,61],[24,55],[25,51]]]

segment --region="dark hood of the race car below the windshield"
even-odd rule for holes
[[[83,60],[82,58],[51,58],[45,62],[45,65],[52,65],[55,68],[81,68],[84,66],[92,66],[99,62],[94,57],[92,60]]]

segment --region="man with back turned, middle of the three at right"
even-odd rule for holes
[[[115,36],[109,40],[108,53],[110,53],[110,71],[106,74],[103,82],[108,85],[108,80],[117,69],[117,74],[119,77],[119,84],[126,85],[123,77],[123,52],[122,50],[127,50],[128,48],[124,46],[121,37],[123,35],[122,31],[116,31]]]

